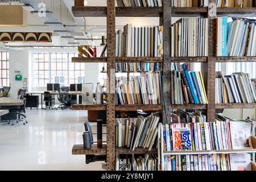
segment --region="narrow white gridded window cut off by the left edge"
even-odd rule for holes
[[[9,86],[9,52],[0,52],[0,86]]]

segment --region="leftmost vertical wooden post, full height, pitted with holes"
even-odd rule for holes
[[[107,170],[115,169],[115,0],[107,0]]]

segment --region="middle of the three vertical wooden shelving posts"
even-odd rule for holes
[[[171,1],[163,0],[163,123],[170,122],[171,119],[171,14]]]

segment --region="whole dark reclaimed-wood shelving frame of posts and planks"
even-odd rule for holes
[[[80,0],[75,0],[80,1]],[[83,1],[83,0],[81,0]],[[75,145],[72,149],[74,155],[106,154],[107,169],[115,169],[115,154],[155,154],[157,151],[148,151],[144,148],[137,148],[130,151],[127,148],[115,148],[115,111],[144,111],[162,110],[163,123],[170,121],[172,109],[203,109],[207,112],[208,121],[214,121],[216,109],[256,109],[256,104],[215,104],[215,72],[217,62],[249,62],[256,61],[256,57],[216,57],[216,16],[256,16],[256,8],[216,8],[216,7],[171,7],[170,0],[163,0],[163,7],[115,7],[115,0],[106,0],[107,7],[73,6],[72,12],[76,17],[106,17],[107,20],[107,57],[82,58],[73,57],[74,63],[107,63],[108,75],[108,102],[106,105],[73,105],[73,110],[106,110],[107,113],[107,143],[102,148],[97,145],[92,150],[83,150],[81,145]],[[209,3],[216,3],[209,0]],[[216,11],[216,14],[211,12]],[[170,57],[171,53],[171,17],[195,17],[203,16],[209,19],[208,30],[208,56],[207,57]],[[116,17],[159,17],[159,25],[164,27],[163,57],[115,57],[115,18]],[[163,105],[115,105],[115,63],[162,63],[163,82]],[[207,105],[172,105],[171,104],[171,63],[201,63],[202,73],[207,89]],[[129,73],[129,72],[128,72]],[[200,152],[209,151],[193,151]],[[214,152],[214,151],[213,151]],[[215,151],[236,153],[237,151]],[[172,153],[174,154],[174,153]],[[182,153],[179,153],[182,154]],[[203,154],[203,153],[202,153]]]

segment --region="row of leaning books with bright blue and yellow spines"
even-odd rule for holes
[[[172,104],[208,104],[201,71],[173,70],[171,93]]]

